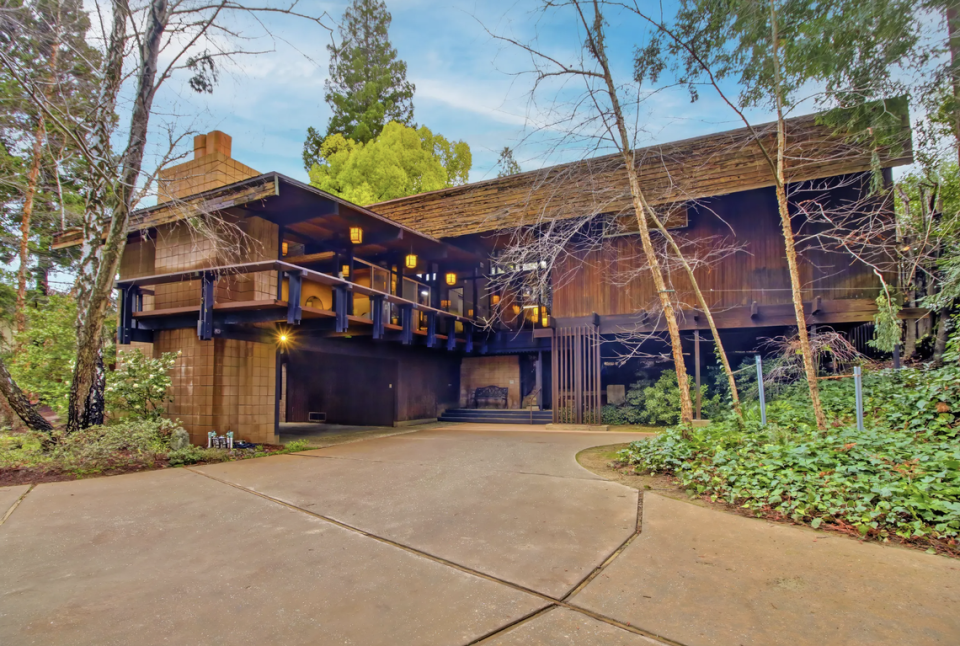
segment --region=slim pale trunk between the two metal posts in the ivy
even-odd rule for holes
[[[780,225],[783,229],[787,266],[790,269],[793,311],[797,318],[797,333],[800,336],[800,352],[803,355],[803,369],[807,375],[807,385],[810,388],[810,403],[813,405],[813,415],[817,420],[817,428],[823,431],[827,428],[827,418],[823,414],[823,405],[820,403],[820,386],[817,383],[817,367],[813,363],[813,349],[810,347],[810,336],[807,334],[807,319],[803,312],[803,285],[800,282],[800,267],[797,262],[797,249],[793,238],[793,224],[790,221],[790,209],[787,204],[787,188],[784,174],[784,153],[787,145],[787,133],[783,120],[783,97],[781,96],[780,86],[780,37],[777,32],[776,9],[772,2],[770,3],[770,29],[775,79],[774,94],[776,95],[777,103],[777,206],[780,211]]]

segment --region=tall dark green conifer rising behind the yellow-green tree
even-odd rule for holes
[[[407,64],[397,58],[388,31],[391,16],[382,0],[353,0],[340,25],[340,44],[328,45],[330,78],[324,99],[333,110],[326,135],[307,131],[303,163],[307,170],[323,159],[330,135],[366,144],[390,121],[413,122],[413,83]]]

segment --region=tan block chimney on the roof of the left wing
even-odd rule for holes
[[[193,138],[193,159],[160,171],[157,203],[182,199],[260,173],[230,156],[233,139],[214,130]]]

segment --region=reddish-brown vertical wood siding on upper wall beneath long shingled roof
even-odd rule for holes
[[[831,195],[836,200],[847,197],[843,191]],[[812,229],[796,217],[794,230],[806,234]],[[791,302],[790,275],[772,188],[706,201],[690,209],[688,229],[673,233],[678,240],[691,241],[700,254],[707,254],[721,240],[742,247],[719,263],[695,271],[711,308]],[[877,297],[879,281],[869,267],[853,257],[815,250],[810,245],[801,249],[800,256],[805,301],[817,296],[831,301]],[[609,238],[600,249],[568,258],[554,272],[553,316],[632,314],[640,310],[656,315],[659,298],[644,267],[639,236]],[[669,288],[676,290],[675,302],[683,309],[697,309],[682,267],[668,268],[666,273]]]

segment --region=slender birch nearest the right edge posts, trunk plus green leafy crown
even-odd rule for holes
[[[638,64],[663,69],[663,51],[680,61],[681,81],[698,97],[707,84],[745,123],[746,108],[767,107],[776,115],[773,149],[754,130],[754,141],[770,167],[780,215],[799,346],[817,427],[827,426],[817,367],[803,310],[796,233],[788,199],[786,115],[802,103],[805,84],[822,83],[820,106],[851,110],[888,90],[892,67],[906,56],[916,40],[914,7],[903,0],[863,3],[844,0],[809,3],[803,0],[683,0],[672,25],[651,16],[637,2],[630,9],[657,27],[666,41],[654,39],[638,55]],[[732,99],[722,88],[735,79],[739,96]],[[807,160],[809,161],[809,160]]]

